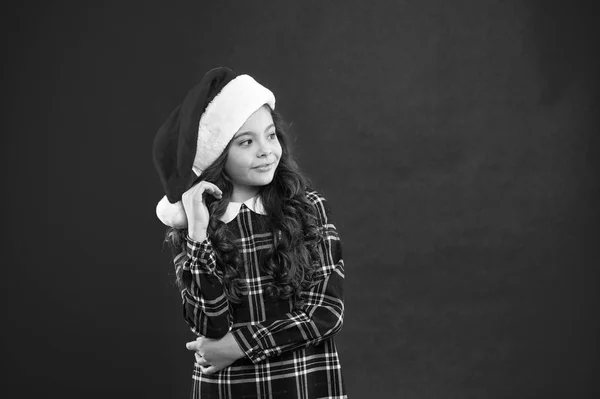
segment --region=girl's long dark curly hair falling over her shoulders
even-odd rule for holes
[[[313,274],[320,260],[319,243],[322,233],[318,225],[317,210],[306,197],[306,191],[310,190],[310,182],[300,172],[290,153],[281,116],[268,108],[282,154],[271,183],[259,187],[268,227],[273,233],[273,246],[259,261],[262,270],[273,278],[264,288],[267,298],[290,298],[295,306],[300,306],[303,303],[301,292],[313,284]],[[220,200],[211,195],[205,198],[210,214],[207,234],[216,253],[217,267],[223,272],[225,295],[229,301],[240,303],[241,298],[247,294],[243,280],[243,259],[227,225],[219,220],[225,213],[233,192],[233,184],[225,172],[228,149],[229,145],[219,158],[202,172],[194,184],[206,180],[223,192]],[[173,253],[175,280],[180,289],[184,288],[186,234],[187,229],[170,227],[165,235],[165,241]]]

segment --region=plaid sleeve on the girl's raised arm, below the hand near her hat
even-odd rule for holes
[[[183,264],[183,317],[191,330],[208,338],[221,338],[231,326],[229,303],[223,291],[222,272],[210,239],[189,237]]]

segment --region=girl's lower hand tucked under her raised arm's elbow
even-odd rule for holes
[[[205,374],[214,374],[246,356],[231,333],[221,339],[198,337],[185,344],[185,347],[196,351],[196,362]]]

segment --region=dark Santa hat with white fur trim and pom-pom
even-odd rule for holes
[[[154,165],[165,190],[156,206],[161,222],[176,228],[187,226],[182,194],[265,104],[275,109],[275,96],[269,89],[225,67],[210,70],[188,92],[154,138]]]

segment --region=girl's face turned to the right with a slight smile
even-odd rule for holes
[[[256,194],[273,180],[281,158],[281,145],[269,108],[254,112],[231,139],[225,172],[233,183],[234,201]],[[238,198],[235,198],[238,197]]]

